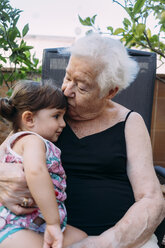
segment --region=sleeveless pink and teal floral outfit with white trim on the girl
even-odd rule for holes
[[[3,162],[6,163],[23,162],[22,157],[12,150],[12,146],[14,142],[18,139],[18,137],[29,134],[35,134],[39,136],[36,133],[27,131],[27,132],[18,132],[10,137],[8,144],[6,146],[6,153],[3,158]],[[63,231],[66,227],[67,213],[64,205],[64,201],[66,199],[66,193],[65,193],[66,175],[61,164],[61,159],[60,159],[61,151],[50,141],[42,138],[41,136],[39,137],[44,141],[46,146],[46,166],[54,184],[54,190],[55,190],[56,199],[59,208],[59,214],[60,214],[61,229]],[[0,243],[10,234],[17,232],[21,229],[27,228],[34,230],[36,232],[44,232],[45,223],[41,226],[37,226],[33,222],[38,216],[43,219],[43,216],[39,209],[37,209],[37,211],[32,214],[17,216],[14,213],[12,213],[9,209],[4,207],[2,204],[0,204]]]

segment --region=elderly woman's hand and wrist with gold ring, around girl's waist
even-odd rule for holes
[[[27,214],[35,208],[21,207],[23,200],[28,199],[28,207],[34,202],[27,188],[21,164],[0,164],[0,202],[13,213]]]

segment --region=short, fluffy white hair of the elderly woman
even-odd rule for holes
[[[128,55],[120,41],[100,34],[89,34],[77,40],[71,47],[71,55],[90,57],[99,67],[96,81],[101,95],[115,87],[119,91],[125,89],[139,71],[138,63]]]

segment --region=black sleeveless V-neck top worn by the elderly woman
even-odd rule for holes
[[[126,119],[81,139],[66,125],[56,143],[67,175],[68,224],[88,235],[114,226],[135,201],[126,172]]]

